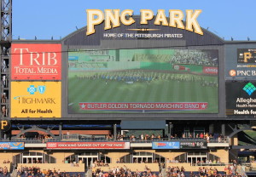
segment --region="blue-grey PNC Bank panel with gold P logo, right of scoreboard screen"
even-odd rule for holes
[[[256,49],[237,49],[236,56],[230,52],[227,54],[229,54],[225,60],[227,79],[255,80]]]

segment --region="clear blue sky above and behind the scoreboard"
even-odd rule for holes
[[[66,37],[86,26],[86,9],[201,9],[201,27],[225,40],[256,40],[256,0],[13,0],[13,39]]]

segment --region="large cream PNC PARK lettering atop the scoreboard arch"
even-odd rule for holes
[[[136,20],[132,18],[133,10],[125,9],[120,11],[119,9],[105,9],[104,12],[100,9],[87,9],[87,32],[86,35],[91,35],[96,32],[95,26],[102,24],[104,21],[104,30],[109,30],[115,27],[119,27],[121,23],[125,26],[130,26],[135,23]],[[187,31],[194,31],[197,34],[203,35],[201,26],[197,22],[197,17],[201,14],[199,9],[187,9],[186,23],[183,24],[184,13],[179,9],[170,9],[169,18],[166,17],[164,9],[159,9],[154,18],[154,12],[150,9],[140,10],[140,24],[147,25],[148,20],[154,19],[154,25],[156,26],[170,26]],[[155,30],[155,29],[148,29]]]

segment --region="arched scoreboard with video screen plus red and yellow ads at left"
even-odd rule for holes
[[[11,117],[225,118],[224,43],[203,31],[148,21],[108,31],[100,24],[90,36],[84,27],[61,41],[16,41]]]

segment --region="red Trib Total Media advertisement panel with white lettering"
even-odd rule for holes
[[[61,80],[61,44],[13,43],[12,80]]]

